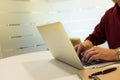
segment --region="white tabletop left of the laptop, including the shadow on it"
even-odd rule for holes
[[[0,80],[81,80],[78,70],[57,61],[49,51],[0,59]]]

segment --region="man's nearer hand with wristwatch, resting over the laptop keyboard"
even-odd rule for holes
[[[105,61],[118,60],[118,54],[114,49],[106,49],[94,46],[81,54],[82,60],[90,63],[92,60],[101,59]]]

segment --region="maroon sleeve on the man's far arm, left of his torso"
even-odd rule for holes
[[[93,45],[100,45],[106,41],[105,16],[106,14],[101,18],[100,23],[96,25],[94,31],[86,38],[86,40],[90,40]]]

